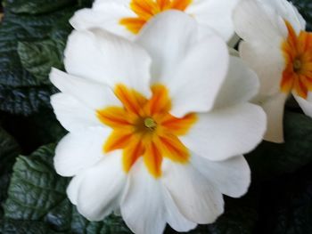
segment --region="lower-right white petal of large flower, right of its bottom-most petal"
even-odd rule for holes
[[[224,211],[222,194],[192,165],[167,162],[162,182],[180,213],[200,224],[215,222]]]

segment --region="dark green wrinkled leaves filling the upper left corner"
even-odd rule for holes
[[[77,1],[55,1],[57,11],[53,4],[47,5],[50,2],[6,3],[0,26],[0,110],[29,116],[50,107],[49,97],[56,89],[48,73],[51,66],[62,69],[62,51],[71,30],[68,20],[78,10]],[[50,10],[45,14],[16,14],[16,9],[31,4]]]

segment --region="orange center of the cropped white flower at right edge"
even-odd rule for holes
[[[283,70],[281,90],[284,93],[295,91],[307,99],[312,90],[312,33],[300,31],[297,36],[288,21],[288,37],[282,44],[286,68]]]

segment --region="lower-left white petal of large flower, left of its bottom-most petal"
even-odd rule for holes
[[[78,211],[90,221],[102,221],[119,206],[127,182],[121,151],[103,158],[83,177],[78,191]]]

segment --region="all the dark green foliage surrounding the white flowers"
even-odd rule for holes
[[[293,1],[312,29],[312,2]],[[131,233],[119,217],[87,222],[66,198],[69,179],[52,165],[66,133],[53,115],[48,80],[62,69],[70,16],[91,0],[6,0],[0,25],[0,233]],[[193,234],[312,233],[312,119],[290,100],[287,144],[263,142],[247,155],[252,184],[246,196],[226,198],[218,222]],[[225,146],[226,147],[226,146]],[[169,228],[166,233],[176,233]]]

